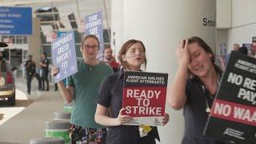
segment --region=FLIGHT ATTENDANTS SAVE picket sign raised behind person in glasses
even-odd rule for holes
[[[86,35],[94,34],[100,42],[97,58],[102,58],[104,50],[102,11],[86,16]]]

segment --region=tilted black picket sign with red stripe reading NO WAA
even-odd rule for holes
[[[234,144],[256,142],[256,59],[232,52],[205,134]]]

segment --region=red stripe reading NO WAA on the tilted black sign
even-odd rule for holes
[[[219,99],[214,101],[210,116],[256,126],[256,107]]]

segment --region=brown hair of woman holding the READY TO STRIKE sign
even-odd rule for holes
[[[144,50],[144,52],[145,52],[145,54],[146,54],[146,48],[145,48],[145,46],[144,46],[144,44],[143,44],[142,41],[138,41],[138,40],[136,40],[136,39],[130,39],[129,41],[125,42],[125,43],[122,45],[122,47],[121,47],[121,49],[119,50],[119,53],[118,53],[118,60],[119,60],[119,62],[121,62],[121,65],[122,65],[124,68],[127,67],[127,63],[122,60],[122,55],[123,55],[123,54],[126,54],[126,52],[129,50],[130,46],[132,46],[134,43],[140,43],[140,44],[142,44],[143,50]],[[146,68],[146,56],[145,56],[144,67]]]

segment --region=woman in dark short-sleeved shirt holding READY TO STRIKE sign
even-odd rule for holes
[[[146,49],[141,41],[131,39],[122,45],[118,58],[123,69],[106,77],[98,92],[98,104],[95,121],[103,126],[109,126],[106,144],[154,144],[155,138],[159,140],[156,127],[145,137],[140,137],[138,126],[123,126],[131,117],[122,115],[122,90],[124,70],[140,71],[144,64],[146,67]],[[110,107],[110,109],[108,109]],[[110,114],[106,114],[110,111]],[[169,115],[162,119],[163,125],[169,121]]]

